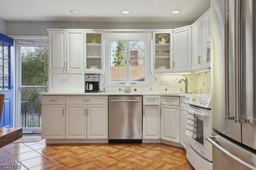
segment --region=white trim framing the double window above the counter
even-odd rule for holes
[[[146,49],[146,56],[145,56],[145,81],[136,82],[137,87],[145,87],[150,86],[150,77],[151,77],[151,43],[152,43],[152,32],[138,32],[138,31],[130,31],[130,32],[104,32],[104,42],[105,42],[105,87],[111,87],[113,85],[126,85],[130,83],[129,74],[126,73],[126,82],[124,84],[120,84],[120,82],[110,82],[110,42],[113,41],[144,41],[145,42],[145,49]],[[128,56],[129,52],[126,49],[126,54]],[[129,67],[129,65],[126,65]],[[127,69],[126,69],[127,70]],[[131,84],[134,85],[134,84]]]

